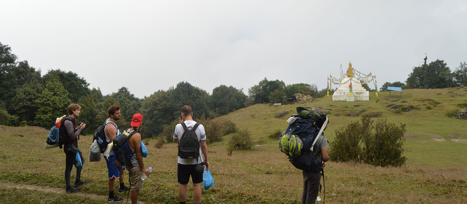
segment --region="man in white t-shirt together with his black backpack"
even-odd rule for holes
[[[209,168],[207,159],[206,133],[202,124],[193,121],[190,106],[181,110],[180,124],[175,127],[174,142],[178,143],[177,181],[180,204],[185,204],[186,187],[193,182],[193,199],[195,204],[201,203],[201,182],[203,182],[203,167]],[[194,130],[194,131],[193,131]],[[202,155],[204,156],[201,156]],[[203,160],[204,159],[204,160]]]

